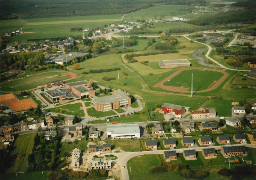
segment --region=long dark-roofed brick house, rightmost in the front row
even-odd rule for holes
[[[237,146],[224,146],[221,147],[221,154],[225,156],[236,156],[236,155],[245,155],[247,154],[247,148],[245,145]]]

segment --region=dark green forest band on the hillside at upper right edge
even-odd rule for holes
[[[252,6],[253,7],[253,6]],[[204,17],[195,20],[190,20],[187,23],[198,26],[206,26],[213,24],[228,24],[228,23],[244,23],[253,24],[256,21],[254,14],[255,9],[238,9],[229,10],[228,12],[221,12],[211,17]]]

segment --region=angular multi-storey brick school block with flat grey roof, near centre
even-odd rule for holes
[[[122,91],[113,91],[112,95],[103,97],[90,95],[90,99],[96,111],[111,111],[131,105],[131,98]]]

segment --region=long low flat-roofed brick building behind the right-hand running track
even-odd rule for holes
[[[190,66],[190,64],[190,61],[187,59],[163,60],[163,62],[158,62],[160,68],[176,68],[178,66]]]

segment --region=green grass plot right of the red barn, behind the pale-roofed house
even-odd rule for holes
[[[206,105],[206,108],[214,108],[219,116],[231,116],[231,101],[224,99],[212,99]]]

